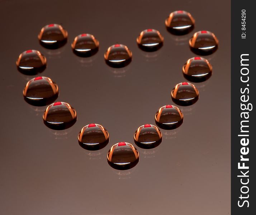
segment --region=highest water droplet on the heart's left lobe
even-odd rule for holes
[[[60,48],[67,43],[67,31],[61,25],[49,24],[41,29],[38,39],[44,48]]]

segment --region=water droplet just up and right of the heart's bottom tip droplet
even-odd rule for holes
[[[133,138],[138,147],[152,149],[162,142],[162,133],[155,125],[145,124],[135,131]]]

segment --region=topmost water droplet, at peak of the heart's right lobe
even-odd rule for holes
[[[190,13],[184,10],[172,12],[165,20],[167,30],[175,35],[184,35],[194,29],[195,20]]]

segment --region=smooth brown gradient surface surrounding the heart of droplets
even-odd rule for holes
[[[118,175],[106,161],[111,145],[133,143],[138,126],[154,122],[158,108],[172,104],[170,91],[185,81],[181,68],[194,57],[188,46],[193,33],[174,36],[165,29],[171,11],[189,11],[198,30],[220,41],[206,58],[213,76],[195,84],[199,101],[184,109],[184,123],[163,132],[154,150],[138,148],[138,165]],[[54,1],[1,0],[1,150],[0,214],[3,215],[223,215],[230,213],[230,1]],[[46,24],[68,31],[66,46],[41,47],[37,34]],[[155,53],[137,48],[136,37],[148,28],[165,38]],[[100,41],[93,58],[79,58],[71,42],[81,33]],[[114,44],[133,53],[125,71],[105,65],[103,54]],[[60,87],[60,101],[77,110],[77,123],[63,132],[48,129],[43,108],[22,96],[34,77],[16,70],[27,49],[48,61],[42,73]],[[110,143],[90,153],[77,142],[82,126],[99,123]]]

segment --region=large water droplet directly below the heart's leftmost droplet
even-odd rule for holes
[[[25,101],[30,105],[44,106],[54,102],[59,95],[56,83],[48,77],[35,77],[23,89]]]

